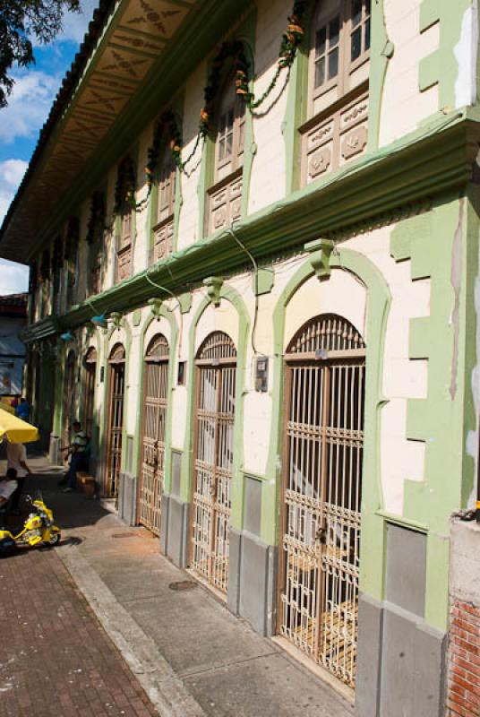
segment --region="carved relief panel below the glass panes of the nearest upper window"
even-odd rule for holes
[[[334,108],[329,117],[310,120],[301,130],[303,184],[338,169],[364,153],[367,143],[368,94]]]

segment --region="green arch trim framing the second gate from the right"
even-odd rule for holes
[[[246,371],[246,351],[250,319],[244,305],[244,299],[240,294],[225,284],[219,292],[220,298],[226,299],[236,308],[238,315],[238,345],[236,347],[236,408],[234,424],[234,471],[232,479],[232,507],[230,514],[230,525],[236,528],[242,527],[244,513],[244,482],[242,470],[244,465],[244,377]],[[184,455],[182,459],[182,482],[180,497],[189,503],[192,498],[193,488],[193,432],[194,432],[194,402],[196,392],[195,382],[195,333],[201,315],[210,306],[210,299],[203,298],[193,317],[189,330],[188,344],[188,372],[187,372],[187,413],[185,422]]]

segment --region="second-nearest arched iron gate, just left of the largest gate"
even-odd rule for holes
[[[197,354],[192,566],[227,592],[233,471],[236,349],[215,332]]]

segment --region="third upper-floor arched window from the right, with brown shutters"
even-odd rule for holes
[[[153,227],[151,260],[158,262],[173,251],[176,165],[172,151],[164,143],[159,159],[157,216]]]

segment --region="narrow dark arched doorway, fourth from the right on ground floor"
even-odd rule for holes
[[[116,343],[108,357],[108,433],[105,492],[116,497],[122,464],[122,432],[124,429],[125,350]]]

